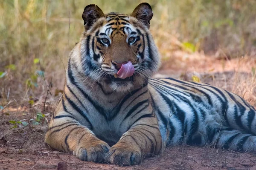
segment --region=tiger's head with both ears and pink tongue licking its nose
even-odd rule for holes
[[[157,71],[157,47],[149,31],[151,6],[141,3],[127,14],[104,14],[96,5],[84,8],[80,70],[115,92],[142,86]]]

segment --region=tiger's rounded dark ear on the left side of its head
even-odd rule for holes
[[[82,18],[84,20],[84,29],[87,31],[93,25],[93,23],[100,17],[105,17],[105,14],[95,4],[87,5],[84,8]]]

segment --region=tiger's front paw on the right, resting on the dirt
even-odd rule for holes
[[[140,148],[131,144],[115,144],[105,156],[105,161],[120,166],[133,165],[141,161]]]

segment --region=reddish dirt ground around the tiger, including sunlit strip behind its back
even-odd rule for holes
[[[191,81],[192,75],[196,75],[202,82],[238,93],[256,107],[255,75],[251,73],[251,68],[256,66],[256,58],[216,60],[200,54],[196,56],[177,53],[175,57],[179,60],[163,61],[155,77],[169,76]],[[256,154],[187,145],[167,147],[163,155],[143,158],[142,164],[131,167],[80,161],[71,153],[48,150],[44,146],[52,109],[44,112],[44,123],[17,124],[12,128],[10,120],[29,122],[35,118],[38,106],[34,105],[6,107],[0,111],[0,170],[53,170],[57,169],[59,162],[65,162],[68,170],[256,170]]]

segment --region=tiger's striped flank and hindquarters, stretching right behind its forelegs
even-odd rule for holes
[[[256,142],[255,109],[240,96],[209,84],[172,78],[151,79],[149,86],[163,140],[170,144],[248,151],[248,143]]]

